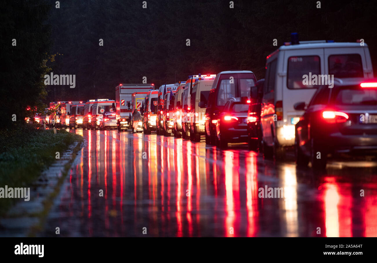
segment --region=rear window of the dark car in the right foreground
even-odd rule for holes
[[[377,105],[377,89],[343,87],[333,90],[331,98],[335,105]]]

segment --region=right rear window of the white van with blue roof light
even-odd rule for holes
[[[363,78],[363,65],[359,54],[331,55],[328,58],[329,75],[334,78]]]

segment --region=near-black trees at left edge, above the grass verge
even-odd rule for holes
[[[41,78],[53,60],[46,23],[50,6],[42,0],[15,0],[1,1],[0,7],[0,127],[9,127],[22,123],[35,107],[44,108],[47,90]]]

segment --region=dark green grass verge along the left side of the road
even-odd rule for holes
[[[0,130],[0,187],[31,187],[41,172],[56,161],[56,152],[63,152],[80,135],[65,130],[37,129],[20,125],[15,129]],[[19,199],[0,198],[0,216]]]

